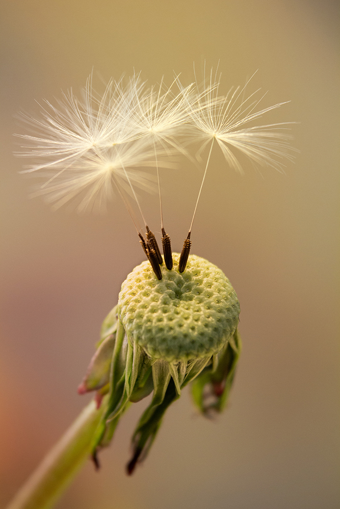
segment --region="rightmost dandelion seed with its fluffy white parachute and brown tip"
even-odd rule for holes
[[[237,156],[234,154],[235,150],[243,153],[257,166],[271,166],[280,172],[283,170],[285,160],[292,161],[294,159],[292,154],[294,149],[292,149],[289,144],[289,140],[292,139],[292,136],[285,132],[291,123],[283,122],[249,126],[253,121],[263,117],[263,115],[269,111],[286,104],[286,102],[274,104],[264,109],[257,109],[259,103],[264,99],[266,94],[257,98],[259,90],[256,90],[246,97],[246,88],[251,78],[242,89],[241,87],[237,87],[236,89],[231,88],[226,96],[219,95],[220,79],[221,76],[217,77],[217,70],[215,75],[213,70],[211,70],[208,80],[204,76],[202,85],[198,83],[196,78],[197,98],[195,101],[188,102],[188,109],[190,110],[188,138],[193,142],[199,142],[201,144],[197,153],[199,158],[209,144],[210,148],[189,228],[189,234],[182,250],[180,261],[182,270],[185,270],[185,257],[189,254],[187,252],[187,240],[190,239],[198,202],[215,142],[221,149],[228,165],[241,174],[243,173],[243,169]],[[180,89],[182,89],[179,80],[178,84]]]

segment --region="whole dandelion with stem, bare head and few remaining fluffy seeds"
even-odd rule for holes
[[[90,76],[82,99],[70,91],[58,106],[46,101],[39,120],[24,117],[36,131],[21,136],[28,145],[20,155],[36,159],[25,172],[45,179],[35,194],[47,196],[56,207],[77,199],[77,208],[85,211],[100,208],[117,192],[148,261],[123,282],[78,388],[80,394],[95,391],[96,405],[77,419],[24,487],[20,502],[9,509],[24,507],[21,500],[28,499],[32,507],[45,506],[89,453],[98,467],[98,452],[110,444],[129,404],[151,393],[133,435],[128,474],[145,459],[166,409],[186,385],[191,384],[203,415],[225,407],[241,351],[240,304],[223,272],[190,254],[202,187],[216,144],[227,164],[240,172],[235,151],[254,165],[279,171],[285,159],[292,159],[290,136],[281,130],[287,124],[251,125],[284,103],[260,109],[263,96],[256,99],[256,91],[247,97],[248,83],[223,96],[213,72],[202,86],[196,79],[184,87],[176,76],[169,88],[163,79],[158,87],[148,88],[134,75],[126,85],[111,80],[100,96]],[[172,253],[164,229],[160,168],[173,167],[174,154],[193,159],[188,150],[192,144],[199,144],[198,161],[204,149],[208,154],[189,234],[178,254]],[[159,193],[163,257],[137,195],[153,190]]]

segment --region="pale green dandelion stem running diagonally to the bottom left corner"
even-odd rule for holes
[[[105,405],[91,401],[33,472],[6,509],[48,509],[67,488],[91,452]]]

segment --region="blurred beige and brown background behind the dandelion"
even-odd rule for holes
[[[0,506],[4,507],[88,397],[76,394],[102,319],[143,260],[117,199],[106,216],[29,200],[12,133],[35,100],[142,71],[150,83],[220,60],[225,91],[291,100],[300,150],[286,174],[219,153],[207,177],[192,252],[216,263],[241,301],[244,349],[229,408],[215,422],[185,392],[145,464],[124,473],[144,403],[121,421],[102,469],[89,462],[59,509],[336,509],[339,494],[338,4],[303,0],[3,0]],[[269,117],[268,117],[269,120]],[[179,177],[185,175],[178,185]],[[199,174],[164,175],[166,229],[180,249]],[[150,222],[157,231],[157,207]]]

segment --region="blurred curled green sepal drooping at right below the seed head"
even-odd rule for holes
[[[241,337],[236,329],[214,356],[212,366],[207,366],[193,382],[193,400],[204,415],[210,415],[212,411],[221,412],[226,406],[240,352]]]

